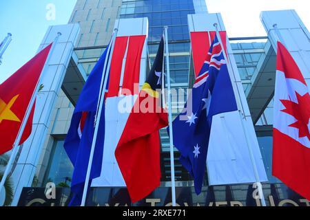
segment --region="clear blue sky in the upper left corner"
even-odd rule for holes
[[[55,20],[46,19],[49,3],[56,7]],[[76,0],[0,0],[0,41],[8,32],[13,35],[0,65],[0,83],[37,53],[48,26],[68,23],[75,3]]]

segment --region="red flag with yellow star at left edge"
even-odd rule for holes
[[[0,85],[0,155],[10,151],[25,118],[52,44],[45,47]],[[20,144],[32,131],[33,105]]]

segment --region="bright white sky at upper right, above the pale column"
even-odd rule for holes
[[[206,0],[209,13],[220,12],[229,37],[267,36],[260,12],[294,9],[310,30],[310,0]]]

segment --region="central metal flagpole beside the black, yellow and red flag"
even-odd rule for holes
[[[171,166],[171,188],[172,188],[172,206],[176,206],[176,180],[174,178],[174,137],[172,132],[172,97],[169,67],[169,48],[168,48],[168,26],[165,26],[165,54],[167,66],[167,84],[168,84],[168,107],[169,107],[169,140],[170,140],[170,166]]]

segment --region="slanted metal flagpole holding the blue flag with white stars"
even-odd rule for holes
[[[223,56],[225,58],[227,66],[228,66],[228,59],[227,59],[227,56],[226,56],[225,47],[223,46],[222,39],[220,38],[220,32],[218,32],[218,24],[214,23],[214,27],[216,28],[216,36],[218,37],[218,42],[220,43],[220,47],[222,47]],[[241,111],[239,110],[239,115],[240,115],[240,112]],[[251,164],[253,166],[254,176],[255,176],[255,179],[256,179],[256,184],[258,186],[258,195],[259,195],[259,198],[261,200],[262,206],[266,206],[265,197],[264,197],[264,194],[262,192],[262,184],[260,183],[260,178],[259,178],[259,175],[258,175],[257,166],[256,166],[256,162],[255,162],[255,159],[254,159],[254,153],[252,151],[251,146],[249,145],[249,139],[247,137],[247,131],[245,129],[245,124],[244,124],[244,120],[243,120],[243,119],[247,120],[247,118],[245,117],[245,113],[244,112],[242,112],[242,115],[243,115],[243,117],[240,115],[242,129],[243,129],[243,132],[245,133],[245,140],[247,141],[247,148],[248,148],[248,151],[249,151],[249,155],[250,155],[250,159],[251,159]]]

